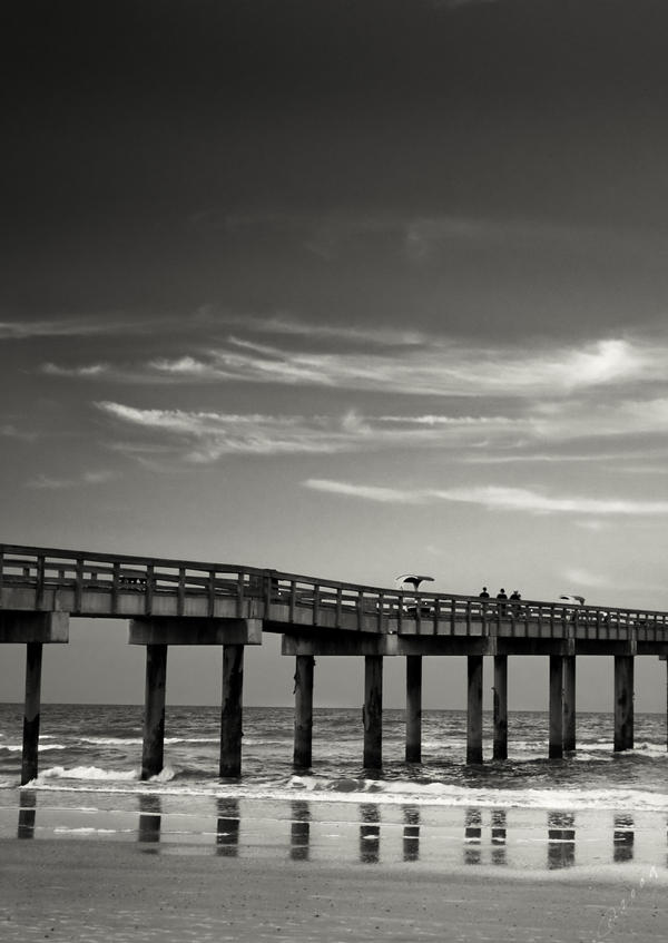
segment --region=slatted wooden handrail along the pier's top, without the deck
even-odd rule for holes
[[[170,570],[173,572],[165,572]],[[19,572],[17,572],[19,571]],[[187,592],[202,592],[209,596],[209,609],[213,610],[215,596],[237,596],[239,611],[246,596],[264,598],[267,607],[285,598],[289,603],[291,616],[295,607],[307,606],[315,612],[322,607],[335,609],[336,625],[342,615],[356,613],[357,626],[373,613],[379,628],[386,611],[397,620],[400,631],[404,619],[420,619],[423,610],[429,611],[434,623],[449,618],[451,628],[455,621],[469,626],[472,619],[484,623],[495,620],[500,623],[505,616],[512,615],[519,620],[536,620],[539,626],[546,623],[553,633],[556,623],[568,621],[574,629],[582,626],[596,627],[600,636],[605,627],[616,627],[618,632],[635,626],[660,626],[666,630],[668,613],[658,610],[620,609],[618,607],[584,606],[573,602],[553,602],[521,600],[511,608],[508,600],[481,600],[478,596],[460,593],[423,592],[406,593],[362,583],[348,583],[341,580],[325,580],[271,570],[259,567],[235,563],[212,563],[193,560],[175,560],[164,557],[137,557],[121,553],[84,552],[59,548],[30,547],[13,543],[0,543],[0,586],[27,585],[37,588],[43,596],[45,587],[61,586],[75,588],[75,611],[80,611],[81,593],[85,586],[97,583],[117,596],[126,588],[125,581],[137,581],[137,587],[146,592],[147,613],[153,608],[155,592],[174,592],[183,610]],[[246,582],[248,580],[248,582]],[[257,583],[254,592],[253,583]],[[412,611],[414,610],[414,611]],[[424,615],[426,616],[426,611]]]

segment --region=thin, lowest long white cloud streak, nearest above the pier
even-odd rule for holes
[[[518,511],[533,514],[596,514],[599,517],[668,514],[668,501],[553,495],[524,488],[499,485],[411,491],[331,481],[328,479],[307,479],[303,484],[316,491],[326,491],[370,501],[394,501],[395,503],[450,501],[480,504],[491,511]]]

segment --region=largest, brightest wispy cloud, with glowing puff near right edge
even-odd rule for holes
[[[151,361],[156,375],[190,382],[275,383],[432,396],[559,397],[662,380],[668,348],[627,338],[583,347],[468,347],[444,338],[396,351],[301,352],[243,337],[226,347]]]

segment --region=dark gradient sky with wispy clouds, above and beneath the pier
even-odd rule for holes
[[[4,542],[668,610],[664,2],[3,19]],[[125,631],[72,623],[45,696],[140,700]],[[543,660],[511,707],[546,706]],[[219,699],[205,661],[168,697]],[[285,662],[249,654],[249,703],[291,703]],[[342,667],[316,703],[361,703]],[[430,659],[428,706],[463,707],[463,670]]]

